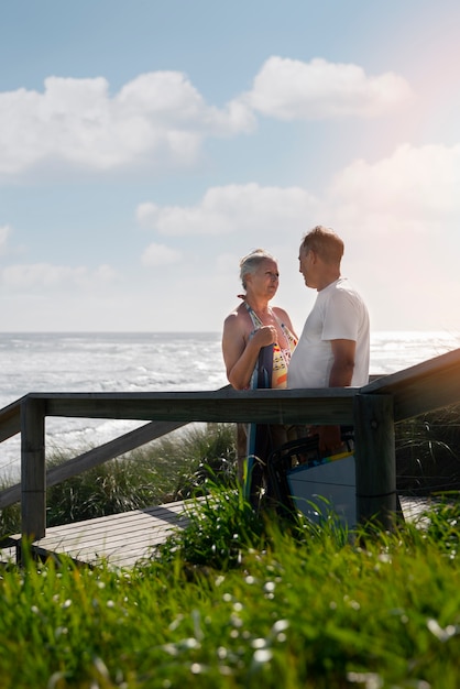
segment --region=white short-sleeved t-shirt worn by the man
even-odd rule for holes
[[[329,387],[333,363],[331,340],[357,342],[352,386],[369,382],[370,326],[361,296],[346,277],[320,292],[293,352],[288,387]]]

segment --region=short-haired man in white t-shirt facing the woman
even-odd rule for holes
[[[299,270],[318,295],[288,369],[288,387],[361,386],[369,381],[370,327],[365,304],[340,275],[343,242],[322,226],[300,244]],[[340,451],[339,426],[319,426],[319,449]]]

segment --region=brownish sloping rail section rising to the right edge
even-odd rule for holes
[[[360,391],[392,394],[395,422],[460,402],[460,349],[379,379]]]

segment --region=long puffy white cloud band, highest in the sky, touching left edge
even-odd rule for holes
[[[205,138],[252,131],[254,112],[282,120],[370,117],[409,96],[393,73],[369,77],[357,65],[325,59],[271,57],[253,89],[220,109],[179,72],[142,74],[114,96],[103,77],[51,76],[43,92],[0,92],[0,176],[190,165]]]

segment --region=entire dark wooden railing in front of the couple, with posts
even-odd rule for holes
[[[391,527],[396,511],[394,425],[460,402],[460,349],[361,389],[169,393],[30,393],[0,412],[0,441],[21,433],[21,483],[0,493],[0,508],[21,500],[22,533],[46,531],[46,485],[144,445],[190,422],[353,425],[357,514]],[[45,471],[47,416],[149,420]]]

